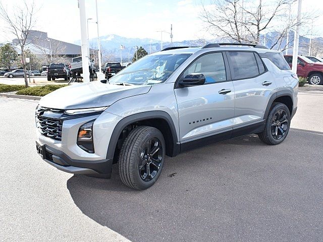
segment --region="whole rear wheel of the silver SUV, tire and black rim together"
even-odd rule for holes
[[[264,130],[258,133],[259,139],[268,145],[282,143],[288,135],[290,122],[291,114],[288,107],[280,102],[273,103],[268,113]]]

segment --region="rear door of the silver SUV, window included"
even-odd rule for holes
[[[276,92],[276,84],[257,52],[227,51],[235,90],[233,137],[239,130],[262,125],[268,101]],[[253,133],[249,131],[246,133]]]

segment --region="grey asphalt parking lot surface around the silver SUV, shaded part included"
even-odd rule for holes
[[[323,88],[303,89],[286,140],[255,135],[166,160],[148,190],[61,172],[36,154],[36,101],[0,98],[4,241],[321,241]]]

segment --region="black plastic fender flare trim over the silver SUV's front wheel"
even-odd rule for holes
[[[175,125],[173,123],[173,119],[171,116],[165,112],[165,111],[146,111],[146,112],[140,112],[140,113],[135,113],[129,116],[126,116],[122,118],[119,123],[116,125],[114,128],[109,146],[107,148],[107,153],[106,153],[106,159],[113,159],[114,154],[115,154],[115,149],[117,147],[118,139],[121,135],[121,132],[130,124],[143,121],[145,119],[151,119],[151,118],[161,118],[164,119],[169,127],[171,128],[171,133],[173,136],[173,143],[174,143],[174,149],[173,149],[173,155],[175,156],[180,152],[180,145],[177,140],[177,133],[175,129]]]

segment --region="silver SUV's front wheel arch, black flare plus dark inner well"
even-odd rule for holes
[[[114,158],[117,155],[118,146],[122,145],[123,139],[132,126],[150,126],[158,129],[164,136],[166,143],[166,154],[176,156],[180,152],[175,125],[171,116],[165,111],[146,111],[124,117],[114,128],[106,158]]]

